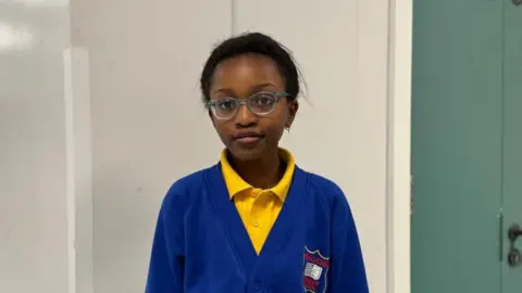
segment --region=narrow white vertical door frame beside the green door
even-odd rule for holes
[[[410,293],[413,0],[388,0],[387,292]]]

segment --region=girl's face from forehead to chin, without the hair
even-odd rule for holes
[[[264,55],[244,54],[220,63],[212,76],[210,97],[212,102],[235,98],[239,101],[259,92],[285,92],[285,79],[276,63]],[[260,99],[256,103],[263,104]],[[228,104],[224,104],[224,107]],[[240,161],[252,161],[277,152],[285,127],[290,127],[298,110],[297,101],[278,98],[272,112],[254,114],[246,104],[228,119],[212,115],[212,122],[221,140]]]

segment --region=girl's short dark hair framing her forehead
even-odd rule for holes
[[[200,78],[203,102],[210,100],[210,86],[215,67],[227,59],[248,53],[262,54],[272,59],[277,64],[281,75],[285,78],[285,91],[289,94],[288,99],[297,99],[299,94],[299,71],[290,51],[266,35],[248,33],[226,39],[212,50]]]

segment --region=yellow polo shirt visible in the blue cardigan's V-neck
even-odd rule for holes
[[[250,241],[259,254],[263,247],[275,219],[279,215],[288,190],[290,189],[294,169],[294,157],[287,150],[279,149],[281,157],[286,162],[286,171],[281,181],[271,189],[258,189],[247,183],[232,168],[226,158],[226,150],[221,153],[221,167],[231,200],[234,200],[241,216]]]

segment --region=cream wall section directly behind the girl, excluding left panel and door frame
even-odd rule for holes
[[[385,292],[387,15],[383,0],[75,3],[73,42],[91,60],[96,292],[142,288],[167,186],[216,162],[198,77],[211,46],[245,30],[295,52],[310,102],[284,144],[344,188]]]

